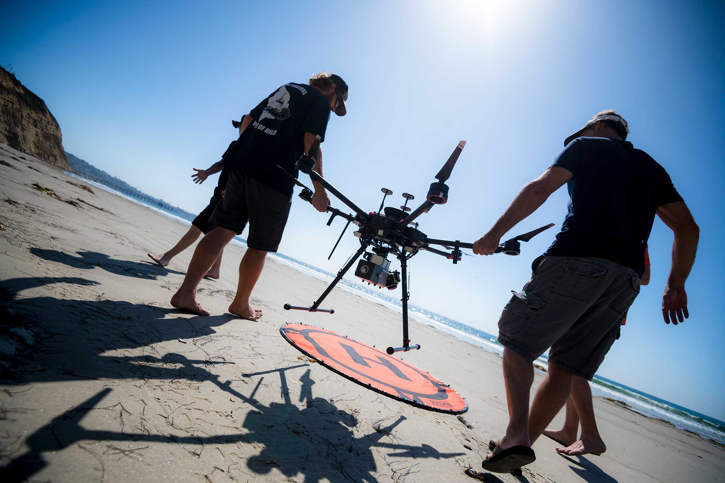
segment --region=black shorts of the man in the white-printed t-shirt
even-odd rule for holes
[[[210,223],[241,233],[249,222],[247,246],[277,251],[292,200],[278,190],[246,175],[231,172],[226,192]]]

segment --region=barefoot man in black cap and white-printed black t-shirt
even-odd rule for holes
[[[239,285],[228,311],[242,319],[262,316],[262,311],[249,306],[249,296],[267,253],[277,251],[282,240],[294,187],[288,174],[297,177],[295,163],[307,154],[316,161],[315,172],[323,175],[318,148],[325,140],[330,113],[347,113],[347,95],[347,83],[339,75],[321,72],[309,84],[282,85],[249,112],[239,139],[223,159],[230,175],[224,198],[210,219],[216,227],[196,247],[171,305],[194,314],[210,314],[196,301],[196,287],[220,250],[249,223],[248,248],[239,264]],[[312,205],[326,212],[327,192],[322,185],[313,184]]]

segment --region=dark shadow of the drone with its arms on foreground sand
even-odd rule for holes
[[[221,382],[216,374],[205,369],[207,366],[216,364],[214,361],[191,360],[181,354],[165,354],[163,361],[181,365],[182,369],[194,371],[194,377],[200,381],[210,381],[220,389],[235,398],[251,406],[250,411],[244,418],[242,428],[246,432],[231,432],[227,434],[199,436],[199,432],[175,427],[173,422],[170,432],[144,431],[146,427],[138,424],[133,427],[133,419],[138,415],[132,415],[123,408],[120,403],[113,404],[108,398],[112,395],[112,389],[107,387],[88,398],[83,403],[57,416],[48,424],[39,428],[25,440],[29,450],[14,458],[3,469],[7,475],[5,481],[15,482],[30,479],[33,474],[43,469],[48,463],[43,453],[61,450],[70,445],[78,445],[84,448],[82,442],[104,442],[107,448],[114,451],[122,450],[108,442],[172,442],[175,445],[198,445],[204,448],[205,445],[217,445],[217,448],[225,449],[224,445],[236,448],[237,442],[259,443],[252,445],[252,448],[262,449],[257,455],[249,458],[239,458],[239,461],[228,466],[226,476],[230,479],[254,476],[254,474],[269,474],[273,469],[281,472],[287,478],[302,475],[306,483],[315,483],[322,480],[331,482],[377,482],[376,475],[380,472],[373,458],[373,448],[397,450],[397,453],[389,453],[396,461],[388,462],[387,471],[392,471],[394,481],[402,481],[408,474],[414,474],[416,458],[453,458],[463,453],[439,453],[429,445],[410,446],[406,445],[397,437],[394,437],[394,429],[405,421],[405,416],[392,422],[386,427],[373,425],[372,432],[361,432],[360,423],[357,417],[335,406],[334,400],[312,397],[311,385],[314,381],[310,377],[310,369],[307,369],[299,381],[302,383],[302,393],[306,400],[304,406],[296,406],[291,402],[289,386],[286,382],[286,371],[302,369],[308,364],[298,364],[279,369],[270,369],[254,374],[245,374],[247,377],[259,377],[260,374],[277,373],[280,378],[282,403],[270,403],[265,406],[254,398],[255,393],[262,385],[265,376],[257,381],[249,396],[242,394],[231,387],[231,382]],[[202,365],[203,364],[203,365]],[[201,367],[199,367],[201,365]],[[170,376],[171,374],[167,374]],[[178,372],[175,373],[178,377]],[[106,401],[101,404],[101,401]],[[119,407],[120,406],[120,407]],[[104,429],[86,429],[87,424],[82,424],[83,418],[90,411],[106,409],[114,414],[120,413],[122,417],[122,431],[107,431]],[[126,415],[123,413],[128,413]],[[130,419],[126,423],[126,419]],[[141,418],[143,419],[143,418]],[[168,418],[167,418],[168,419]],[[116,418],[117,420],[117,418]],[[129,429],[134,428],[134,429]],[[141,428],[141,429],[139,429]],[[356,436],[356,431],[360,436]],[[183,434],[186,433],[186,434]],[[142,455],[140,447],[133,450],[137,456]],[[86,449],[86,448],[84,448]],[[187,450],[196,455],[196,450]],[[220,450],[221,452],[221,450]],[[95,453],[94,453],[95,454]],[[105,454],[105,453],[104,453]],[[117,454],[117,453],[115,453]],[[201,450],[199,454],[201,455]],[[402,457],[409,457],[410,460],[401,461]],[[103,458],[96,454],[101,461]],[[241,469],[244,465],[247,471]],[[101,470],[104,466],[101,465]],[[251,471],[251,474],[249,473]],[[99,475],[101,480],[104,475]],[[246,479],[246,478],[245,478]]]

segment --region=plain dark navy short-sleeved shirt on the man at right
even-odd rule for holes
[[[608,138],[576,138],[552,167],[573,174],[571,200],[544,255],[607,259],[642,277],[655,211],[683,201],[665,169],[629,141]]]

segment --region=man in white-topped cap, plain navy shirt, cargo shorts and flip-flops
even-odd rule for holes
[[[677,324],[689,316],[684,282],[699,228],[665,169],[627,142],[628,133],[616,112],[589,119],[473,244],[474,253],[491,255],[508,230],[567,183],[571,201],[561,231],[498,322],[510,421],[505,437],[490,442],[486,471],[510,472],[534,461],[531,444],[566,403],[573,378],[592,380],[639,294],[655,214],[674,231],[663,317]],[[547,348],[549,370],[529,412],[532,363]]]

